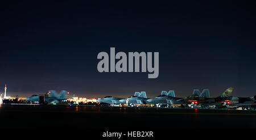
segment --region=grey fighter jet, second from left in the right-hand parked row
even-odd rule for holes
[[[134,96],[130,96],[126,99],[121,99],[119,101],[122,104],[128,104],[127,106],[134,107],[138,104],[147,104],[147,95],[145,91],[135,92]]]

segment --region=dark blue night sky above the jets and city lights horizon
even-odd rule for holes
[[[252,1],[1,2],[0,92],[67,90],[127,97],[162,90],[188,96],[256,95],[256,5]],[[97,54],[159,52],[159,77],[98,73]]]

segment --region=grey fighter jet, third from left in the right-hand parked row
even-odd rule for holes
[[[175,97],[174,91],[162,91],[161,95],[147,99],[148,104],[156,104],[156,107],[161,107],[161,105],[174,104],[174,101],[179,100],[181,98]]]

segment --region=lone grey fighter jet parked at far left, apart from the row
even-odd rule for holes
[[[45,96],[45,103],[53,103],[53,102],[58,102],[61,100],[67,100],[69,92],[67,91],[61,91],[60,94],[58,95],[56,91],[49,91],[46,93],[46,95],[41,95]],[[32,95],[30,97],[27,97],[26,100],[28,101],[39,101],[40,95]]]

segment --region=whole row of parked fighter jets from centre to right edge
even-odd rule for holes
[[[97,101],[102,104],[118,105],[121,107],[123,104],[129,107],[135,107],[139,105],[155,105],[156,107],[173,107],[172,105],[180,105],[184,108],[233,108],[237,109],[255,109],[256,107],[256,95],[252,97],[238,97],[232,96],[234,88],[228,88],[223,94],[217,97],[210,97],[210,91],[204,89],[193,90],[191,96],[188,97],[176,97],[174,91],[162,91],[161,95],[155,98],[147,98],[146,92],[135,92],[134,96],[121,99],[113,96],[106,96]]]

